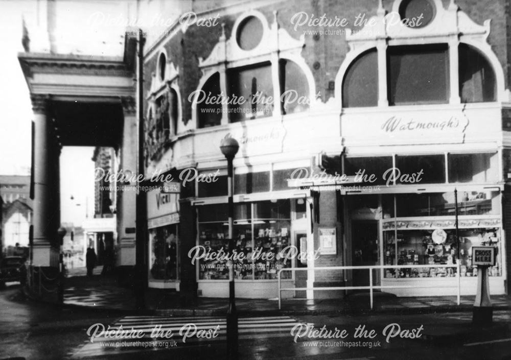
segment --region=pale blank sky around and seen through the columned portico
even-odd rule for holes
[[[105,12],[100,18],[123,14],[123,1],[85,0],[57,2],[58,52],[122,56],[124,25],[115,22],[105,27],[98,19],[99,5]],[[31,51],[37,40],[44,38],[45,0],[0,0],[0,174],[29,175],[31,153],[31,122],[33,119],[30,94],[17,59],[21,45],[22,17],[31,38]],[[124,10],[126,11],[126,10]],[[96,14],[96,15],[94,15]],[[96,17],[94,17],[96,16]],[[124,16],[124,15],[123,15]],[[102,27],[103,26],[103,27]],[[106,36],[110,34],[110,36]],[[81,224],[88,208],[94,214],[94,148],[64,147],[60,157],[61,222]],[[73,195],[74,200],[71,200]],[[88,199],[88,201],[87,201]],[[87,204],[88,203],[88,204]],[[78,205],[80,204],[80,205]],[[86,206],[88,205],[88,206]]]

